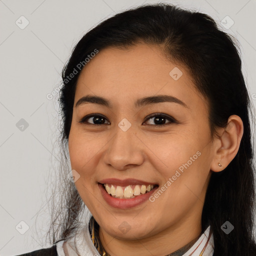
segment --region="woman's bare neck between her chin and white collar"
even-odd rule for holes
[[[201,220],[182,220],[150,237],[125,240],[111,236],[99,227],[99,238],[105,251],[111,256],[180,256],[183,255],[201,235]],[[189,223],[188,223],[189,222]],[[179,226],[179,228],[177,228]]]

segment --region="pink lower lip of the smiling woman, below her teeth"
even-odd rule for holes
[[[154,190],[158,187],[154,187],[152,190],[145,194],[137,195],[133,198],[125,199],[125,198],[115,198],[107,193],[106,189],[103,187],[103,184],[98,183],[98,187],[100,189],[100,192],[105,199],[105,201],[112,207],[119,208],[119,209],[127,209],[131,207],[135,207],[150,197],[150,195],[154,192]]]

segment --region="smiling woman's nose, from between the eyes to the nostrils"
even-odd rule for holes
[[[143,143],[130,127],[123,131],[117,126],[110,141],[106,144],[104,163],[117,170],[126,170],[144,161]]]

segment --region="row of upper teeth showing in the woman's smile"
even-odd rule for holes
[[[149,192],[153,185],[128,185],[128,186],[115,186],[112,184],[104,184],[107,193],[117,197],[134,197],[134,195],[144,194],[146,191]],[[133,187],[133,189],[132,189]]]

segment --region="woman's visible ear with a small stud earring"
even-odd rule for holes
[[[243,134],[243,123],[238,115],[229,116],[225,128],[218,129],[218,137],[213,142],[213,158],[210,169],[218,172],[223,170],[238,152]],[[219,166],[220,163],[222,166]]]

